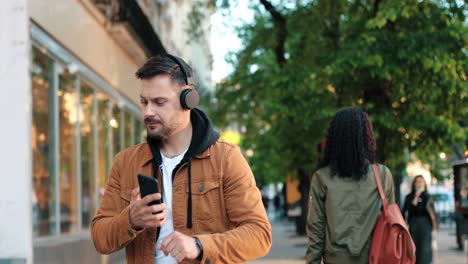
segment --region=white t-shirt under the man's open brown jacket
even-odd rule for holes
[[[182,161],[184,158],[185,150],[182,154],[174,158],[167,158],[164,155],[162,156],[162,179],[163,179],[163,201],[166,204],[166,223],[161,227],[159,233],[158,241],[156,241],[156,246],[160,245],[164,238],[169,236],[174,232],[174,222],[172,220],[172,171],[174,168]],[[155,259],[154,263],[157,264],[177,264],[177,260],[172,256],[165,256],[164,252],[161,250],[156,250],[155,247]]]

